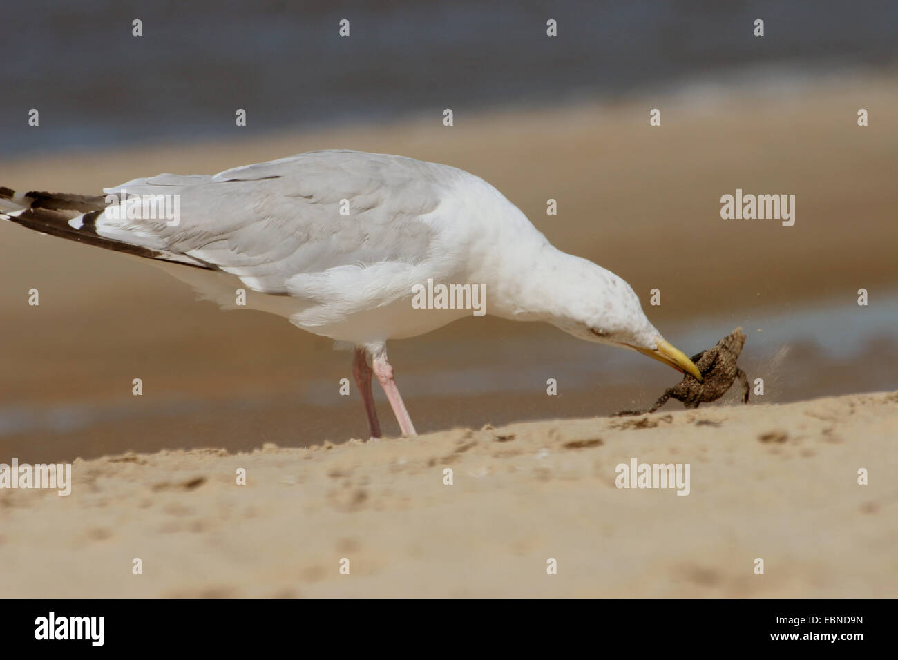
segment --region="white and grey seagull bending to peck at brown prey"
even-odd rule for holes
[[[429,294],[428,304],[412,304],[433,283],[482,291],[486,313],[549,322],[701,381],[626,281],[559,251],[497,189],[448,165],[325,150],[212,176],[164,173],[103,192],[0,188],[0,218],[153,260],[224,309],[274,313],[351,348],[374,438],[373,375],[401,433],[415,435],[386,342],[472,313]]]

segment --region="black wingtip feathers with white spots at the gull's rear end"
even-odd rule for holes
[[[97,233],[97,219],[102,216],[107,206],[102,195],[92,197],[32,190],[17,196],[14,190],[0,186],[0,220],[9,220],[35,232],[95,245],[106,250],[125,252],[147,259],[172,261],[186,266],[209,268],[206,263],[186,254],[147,248]]]

